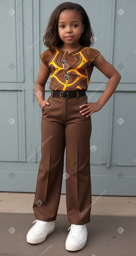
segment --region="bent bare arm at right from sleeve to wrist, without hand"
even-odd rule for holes
[[[97,103],[103,107],[117,88],[121,79],[121,75],[117,69],[115,69],[109,62],[104,59],[101,53],[98,54],[97,58],[92,61],[92,64],[98,68],[107,78],[109,78],[109,82],[107,83],[102,96],[97,101]]]

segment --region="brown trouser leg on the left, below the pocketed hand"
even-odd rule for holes
[[[42,109],[42,157],[33,203],[35,218],[42,221],[53,221],[57,216],[65,151],[65,126],[59,122],[62,118],[61,110],[59,110],[59,106],[54,106],[57,103],[52,96],[49,97],[48,101],[50,105],[45,105]]]

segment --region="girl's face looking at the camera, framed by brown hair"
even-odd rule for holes
[[[59,14],[58,33],[65,46],[79,44],[84,27],[85,24],[82,25],[81,16],[74,10],[66,9]]]

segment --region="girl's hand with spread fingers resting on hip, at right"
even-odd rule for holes
[[[101,108],[103,107],[102,105],[100,105],[98,102],[96,103],[86,103],[83,104],[81,106],[79,106],[79,108],[85,107],[83,110],[80,110],[79,113],[81,113],[82,115],[88,114],[86,115],[86,117],[90,116],[91,114],[101,110]]]

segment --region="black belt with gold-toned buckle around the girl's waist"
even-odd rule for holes
[[[85,90],[78,90],[79,91],[79,97],[86,95]],[[53,96],[61,99],[67,99],[67,98],[74,98],[77,97],[76,91],[53,91]]]

